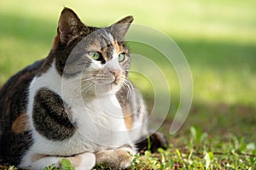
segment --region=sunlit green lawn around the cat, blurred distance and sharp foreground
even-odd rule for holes
[[[193,103],[183,127],[170,135],[181,92],[175,65],[165,64],[157,50],[131,43],[132,52],[141,50],[141,54],[160,65],[168,77],[172,99],[160,127],[169,139],[168,149],[137,156],[131,168],[256,168],[255,1],[3,0],[0,86],[16,71],[47,56],[63,6],[73,8],[89,26],[109,26],[131,14],[135,24],[150,26],[171,37],[188,60]],[[137,63],[132,62],[136,71]],[[150,70],[143,67],[145,72]],[[131,80],[141,90],[150,111],[154,105],[152,91],[160,87],[136,73],[131,73]],[[160,105],[166,106],[165,101]]]

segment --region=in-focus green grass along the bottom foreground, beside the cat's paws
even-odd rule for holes
[[[167,150],[159,149],[159,153],[145,151],[137,154],[128,169],[255,169],[256,146],[247,143],[243,138],[230,134],[224,138],[216,138],[202,132],[198,126],[190,127],[185,135],[172,142]],[[73,169],[66,159],[62,159],[61,169]],[[7,167],[6,167],[7,168]],[[9,170],[16,169],[9,167]],[[50,165],[44,170],[58,170]],[[102,164],[94,169],[111,169]]]

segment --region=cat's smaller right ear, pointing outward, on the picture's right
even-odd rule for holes
[[[114,37],[121,41],[124,39],[126,32],[128,31],[129,27],[131,26],[131,22],[133,21],[132,16],[126,16],[122,20],[114,23],[110,26],[111,32],[113,33]]]

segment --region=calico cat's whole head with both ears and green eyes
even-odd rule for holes
[[[62,77],[81,77],[83,93],[116,92],[125,84],[130,53],[124,37],[133,18],[127,16],[111,26],[85,26],[70,8],[64,8],[51,54]]]

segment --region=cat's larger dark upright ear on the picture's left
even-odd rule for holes
[[[61,44],[68,44],[80,32],[88,29],[71,8],[63,8],[58,22],[58,36]]]

